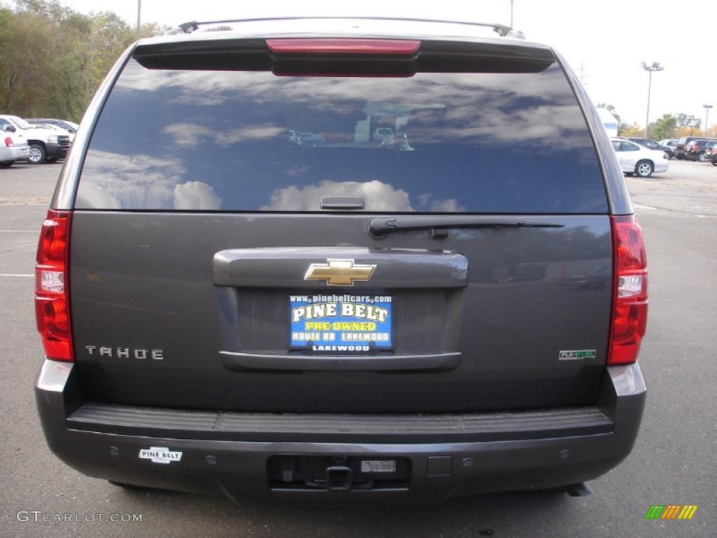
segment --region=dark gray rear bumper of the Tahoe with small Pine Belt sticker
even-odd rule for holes
[[[595,407],[413,417],[293,415],[291,420],[266,415],[262,420],[260,414],[90,404],[82,401],[73,368],[45,361],[35,395],[49,448],[88,476],[236,500],[352,506],[434,503],[597,478],[632,450],[646,394],[640,367],[633,364],[607,370]],[[364,461],[379,469],[397,461],[404,473],[384,480],[384,469],[367,471],[375,485],[353,487],[344,480],[351,471],[338,471],[337,487],[327,489],[272,480],[268,469],[277,458],[283,458],[282,466],[326,458],[327,469],[337,468],[331,462],[351,461],[354,472]]]

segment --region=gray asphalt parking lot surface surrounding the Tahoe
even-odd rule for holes
[[[630,458],[591,496],[499,494],[440,506],[307,510],[124,491],[47,449],[32,382],[37,231],[61,164],[0,170],[0,536],[12,537],[713,537],[717,528],[717,166],[670,161],[627,178],[645,231],[650,320],[642,346],[648,402]],[[693,518],[647,520],[652,505]]]

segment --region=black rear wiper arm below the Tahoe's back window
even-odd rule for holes
[[[369,233],[383,237],[396,232],[419,230],[449,230],[451,228],[562,228],[564,225],[541,220],[540,217],[485,217],[450,216],[441,217],[376,217],[371,220]]]

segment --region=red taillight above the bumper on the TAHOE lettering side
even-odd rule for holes
[[[68,211],[47,212],[42,223],[35,265],[35,317],[45,356],[74,362],[67,300]]]

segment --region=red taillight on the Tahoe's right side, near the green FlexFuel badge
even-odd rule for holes
[[[637,360],[647,327],[647,257],[634,216],[612,217],[614,311],[607,364]]]

